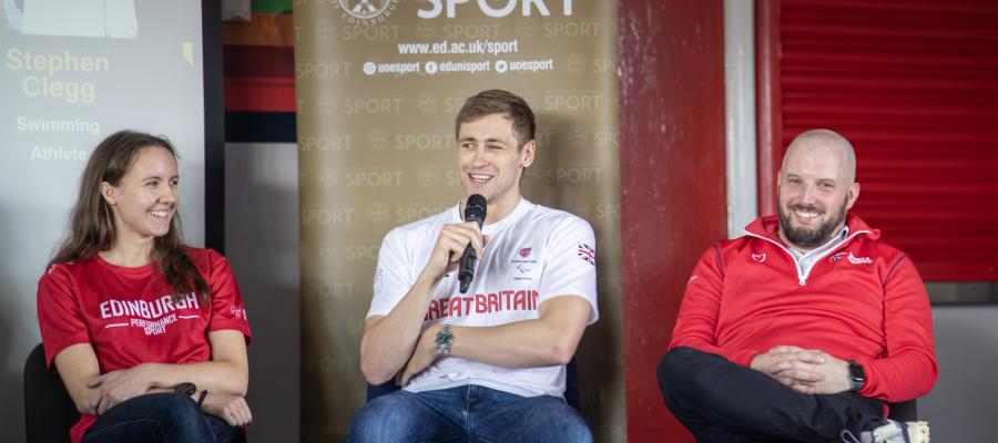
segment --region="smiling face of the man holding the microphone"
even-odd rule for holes
[[[533,163],[536,148],[532,140],[519,146],[512,122],[503,114],[460,125],[457,161],[461,186],[466,196],[486,197],[486,223],[501,219],[519,203],[520,176]]]

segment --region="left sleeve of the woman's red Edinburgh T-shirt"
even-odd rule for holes
[[[38,326],[50,369],[63,349],[90,342],[75,285],[65,267],[52,265],[38,281]]]

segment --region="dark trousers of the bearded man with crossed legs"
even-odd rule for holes
[[[841,442],[884,423],[884,403],[853,392],[808,395],[692,348],[659,362],[665,406],[697,442]]]

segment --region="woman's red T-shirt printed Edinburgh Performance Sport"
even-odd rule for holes
[[[211,249],[187,248],[211,290],[174,301],[155,264],[125,268],[100,256],[53,265],[38,282],[38,322],[45,359],[69,346],[90,343],[101,373],[140,363],[195,363],[212,357],[207,333],[233,329],[249,342],[243,296],[228,260]],[[73,442],[96,418],[82,415],[70,431]]]

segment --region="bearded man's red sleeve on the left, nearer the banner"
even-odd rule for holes
[[[724,270],[717,246],[711,247],[693,268],[686,281],[686,292],[672,331],[669,349],[689,347],[715,353],[729,361],[748,367],[760,353],[754,349],[725,349],[717,346],[717,319],[721,315]]]

